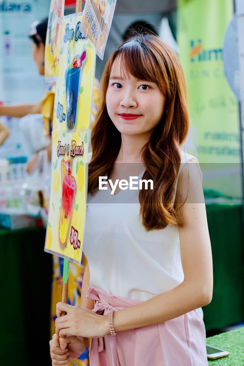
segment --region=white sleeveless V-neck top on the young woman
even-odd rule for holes
[[[181,168],[191,159],[198,163],[181,151]],[[171,224],[146,232],[138,216],[138,192],[128,188],[112,195],[108,186],[88,194],[83,251],[91,287],[145,301],[179,285],[184,273],[178,228]],[[135,203],[122,203],[128,194]]]

